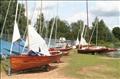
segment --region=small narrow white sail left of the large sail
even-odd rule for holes
[[[12,43],[17,41],[18,39],[20,39],[20,32],[19,32],[19,29],[18,29],[18,24],[15,20]]]

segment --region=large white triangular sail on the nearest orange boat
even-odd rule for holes
[[[28,26],[28,36],[30,50],[50,56],[45,40],[36,32],[35,28],[31,25]]]

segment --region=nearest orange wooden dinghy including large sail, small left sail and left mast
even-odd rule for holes
[[[10,67],[8,70],[8,75],[11,75],[11,72],[31,69],[35,67],[45,66],[46,69],[48,69],[48,65],[50,63],[60,60],[61,53],[59,51],[54,51],[57,52],[57,54],[50,54],[45,40],[36,32],[35,28],[31,25],[27,25],[28,40],[26,42],[28,43],[29,51],[24,54],[21,53],[20,55],[12,55],[13,43],[20,39],[20,33],[16,22],[17,9],[18,3],[16,7],[13,38],[10,49]]]

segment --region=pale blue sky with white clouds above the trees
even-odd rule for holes
[[[28,1],[29,18],[33,17],[33,23],[39,14],[40,7],[41,1]],[[88,7],[90,25],[97,16],[103,19],[110,29],[113,26],[120,27],[120,1],[88,1]],[[42,12],[46,20],[58,15],[60,19],[69,23],[81,19],[86,24],[86,1],[42,1]]]

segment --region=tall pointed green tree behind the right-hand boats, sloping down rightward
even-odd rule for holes
[[[112,42],[112,33],[103,20],[99,21],[98,18],[96,18],[93,22],[92,31],[94,31],[92,38],[93,43],[96,43],[96,35],[98,41]]]

